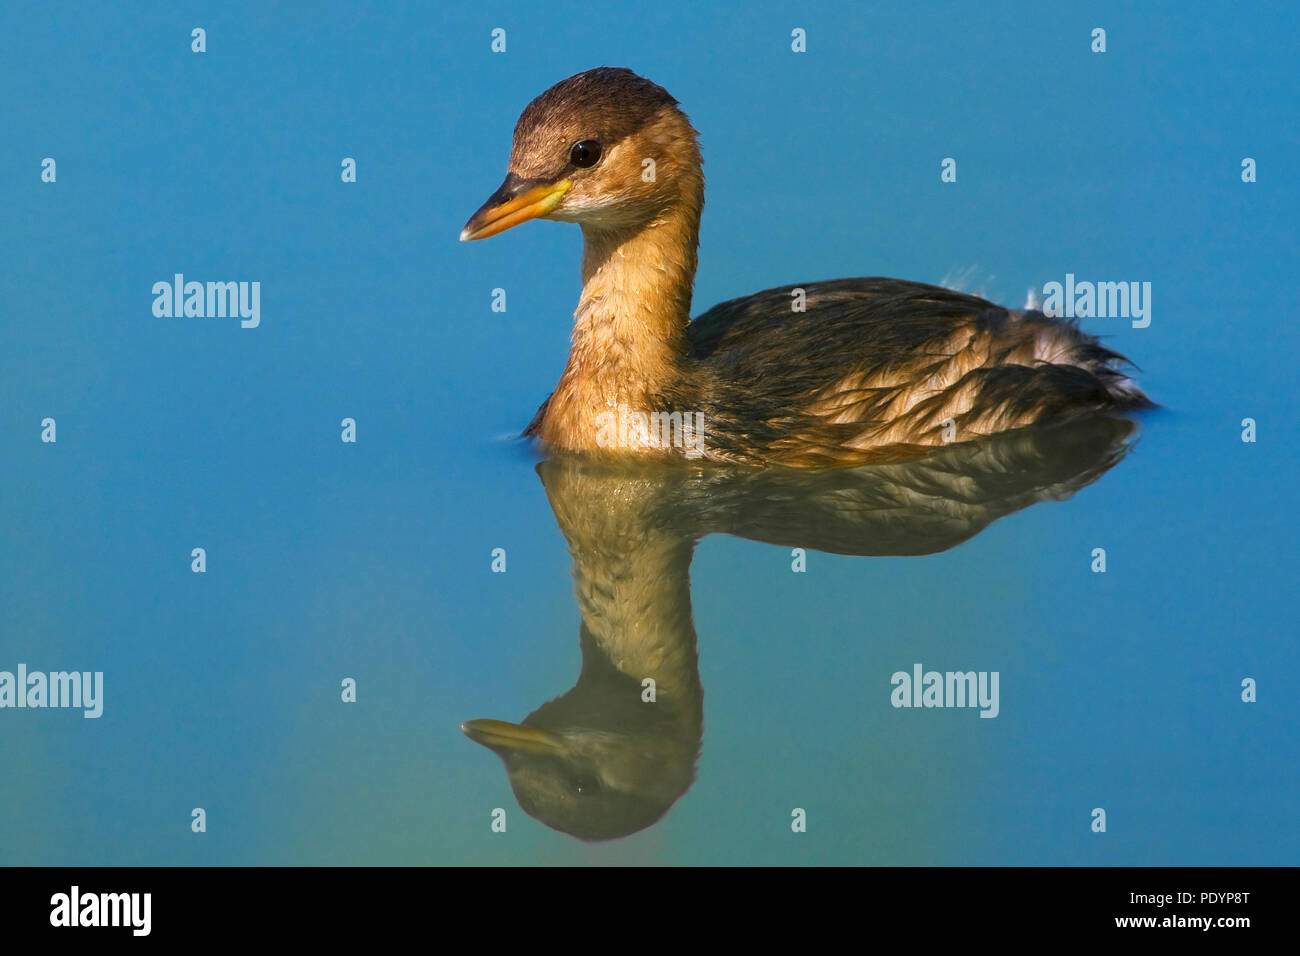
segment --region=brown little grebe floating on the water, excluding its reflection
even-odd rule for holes
[[[663,87],[614,68],[556,83],[519,117],[506,181],[460,238],[541,217],[577,222],[584,246],[568,365],[525,434],[818,467],[1150,406],[1126,359],[1072,324],[919,282],[768,289],[692,321],[696,137]]]

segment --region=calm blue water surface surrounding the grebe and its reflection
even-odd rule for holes
[[[0,13],[0,670],[105,688],[99,719],[0,709],[0,862],[1295,864],[1295,7],[515,7]],[[524,104],[602,64],[701,130],[697,312],[840,276],[1017,307],[1149,281],[1149,326],[1083,325],[1164,411],[936,554],[800,574],[703,536],[697,779],[584,843],[459,728],[581,665],[508,437],[563,368],[580,234],[456,237]],[[260,281],[260,325],[155,317],[178,272]],[[998,671],[998,717],[893,708],[916,662]]]

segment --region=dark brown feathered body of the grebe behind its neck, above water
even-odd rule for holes
[[[792,308],[802,287],[806,311]],[[688,326],[672,407],[720,458],[881,460],[1095,408],[1150,405],[1095,336],[939,286],[848,278],[768,289]],[[703,405],[693,408],[690,403]]]

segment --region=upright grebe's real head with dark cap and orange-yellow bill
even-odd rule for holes
[[[515,125],[506,181],[460,238],[485,239],[530,219],[584,229],[640,229],[703,200],[696,130],[668,91],[601,66],[556,83]]]

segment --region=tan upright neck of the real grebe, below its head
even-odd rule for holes
[[[670,207],[646,226],[582,229],[582,295],[568,365],[538,437],[559,447],[601,447],[601,415],[666,411],[686,356],[699,204]]]

